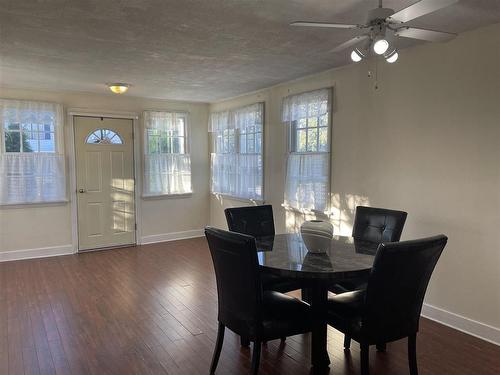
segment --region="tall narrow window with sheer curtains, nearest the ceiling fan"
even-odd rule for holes
[[[331,90],[288,96],[282,120],[289,127],[285,205],[325,212],[330,191]]]

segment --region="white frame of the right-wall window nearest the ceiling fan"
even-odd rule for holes
[[[328,191],[328,194],[332,194],[332,158],[333,158],[333,142],[332,142],[332,138],[333,138],[333,90],[334,90],[334,87],[323,87],[323,88],[319,88],[319,89],[314,89],[314,90],[309,90],[309,91],[303,91],[303,92],[299,92],[299,93],[296,93],[296,94],[291,94],[290,96],[295,96],[295,95],[302,95],[302,94],[307,94],[309,92],[314,92],[314,91],[320,91],[320,90],[328,90],[328,103],[327,103],[327,109],[328,109],[328,125],[326,126],[327,128],[327,131],[328,131],[328,134],[327,134],[327,145],[326,145],[326,151],[295,151],[294,149],[294,143],[295,142],[295,134],[293,132],[293,125],[292,123],[293,122],[296,122],[295,121],[283,121],[282,120],[282,123],[286,125],[286,143],[287,143],[287,150],[286,150],[286,160],[285,160],[285,181],[284,181],[284,192],[286,192],[286,171],[287,171],[287,164],[288,164],[288,159],[289,159],[289,156],[290,155],[318,155],[318,154],[329,154],[329,158],[328,158],[328,176],[327,177],[327,180],[328,180],[328,186],[327,186],[327,191]],[[282,104],[283,105],[283,104]],[[282,108],[283,110],[283,108]],[[319,117],[318,118],[318,129],[319,129]],[[303,128],[305,129],[305,128]],[[319,132],[318,132],[318,136],[319,136]],[[307,147],[307,145],[306,145]],[[285,196],[283,196],[283,200],[284,200]],[[328,199],[327,203],[326,203],[326,207],[325,207],[325,210],[324,211],[321,211],[321,210],[316,210],[316,209],[301,209],[301,208],[297,208],[297,207],[294,207],[294,206],[290,206],[288,204],[286,204],[285,202],[283,202],[282,204],[282,207],[284,207],[286,210],[290,210],[290,211],[294,211],[294,212],[297,212],[297,213],[301,213],[301,214],[309,214],[309,213],[313,213],[315,215],[320,215],[320,216],[324,216],[324,217],[327,217],[331,210],[331,197],[330,199]]]

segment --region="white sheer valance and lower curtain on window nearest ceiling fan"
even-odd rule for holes
[[[330,89],[288,96],[283,100],[282,121],[293,132],[296,127],[292,124],[299,120],[328,115],[330,98]],[[325,212],[329,204],[329,191],[330,153],[298,153],[291,149],[287,158],[285,205],[299,210]]]

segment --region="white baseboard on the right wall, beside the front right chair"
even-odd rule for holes
[[[492,344],[500,345],[500,328],[490,326],[477,320],[440,309],[439,307],[424,303],[422,316],[454,328],[458,331],[478,337]]]

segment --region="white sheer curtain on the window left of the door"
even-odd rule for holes
[[[0,204],[65,201],[67,197],[62,106],[55,103],[0,99],[0,122],[3,132],[0,154]],[[7,134],[16,136],[9,138]],[[34,138],[40,137],[40,134],[48,135],[48,141],[52,143],[50,152],[42,152],[40,148],[33,150],[30,146],[21,152],[23,148],[19,144],[29,144]],[[18,148],[12,144],[8,145],[9,142],[17,142]],[[39,145],[40,140],[37,139],[37,142]]]

